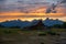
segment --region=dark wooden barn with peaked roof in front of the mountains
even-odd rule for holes
[[[25,30],[46,30],[46,26],[42,22],[42,20],[38,20],[36,24],[33,24],[31,26],[24,28]]]

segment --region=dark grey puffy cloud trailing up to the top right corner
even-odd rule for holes
[[[47,8],[46,9],[46,12],[45,13],[56,13],[57,11],[55,10],[59,4],[62,4],[62,3],[66,3],[66,0],[56,0],[56,4],[52,4],[52,7],[51,8]],[[65,4],[66,6],[66,4]],[[64,6],[64,7],[65,7]]]

